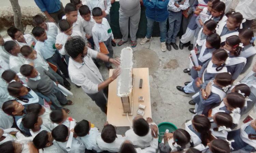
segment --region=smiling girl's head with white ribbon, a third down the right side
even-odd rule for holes
[[[229,36],[226,39],[224,48],[230,51],[231,54],[239,56],[242,51],[243,44],[237,35]]]

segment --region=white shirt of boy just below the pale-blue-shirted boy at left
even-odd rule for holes
[[[31,60],[29,58],[26,59],[24,64],[30,64],[30,63],[34,63],[34,67],[43,67],[45,70],[49,70],[49,64],[44,60],[44,57],[42,56],[40,51],[37,51],[37,58],[35,58],[34,60]]]

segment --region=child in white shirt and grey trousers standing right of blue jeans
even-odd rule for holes
[[[168,3],[169,10],[169,30],[167,32],[166,47],[170,51],[171,46],[178,50],[176,45],[176,37],[181,27],[182,10],[186,10],[189,7],[189,0],[184,1],[181,4],[175,3],[174,0],[170,0]]]

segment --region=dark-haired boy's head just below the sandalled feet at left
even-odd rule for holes
[[[50,113],[50,119],[53,123],[62,124],[68,118],[68,114],[64,109],[56,109]]]

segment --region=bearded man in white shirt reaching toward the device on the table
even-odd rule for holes
[[[72,83],[82,86],[86,94],[106,113],[106,93],[103,89],[114,81],[121,73],[120,68],[113,71],[112,76],[103,81],[99,69],[92,58],[99,58],[115,65],[120,65],[119,60],[110,58],[86,46],[81,38],[71,38],[65,44],[65,49],[70,55],[69,76]]]

